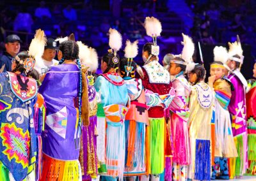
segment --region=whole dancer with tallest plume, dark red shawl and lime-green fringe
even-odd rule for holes
[[[143,61],[145,64],[143,66],[144,78],[142,79],[150,124],[150,140],[148,140],[150,141],[150,173],[152,179],[154,179],[164,171],[164,140],[166,137],[164,109],[168,108],[172,102],[175,92],[172,89],[168,71],[158,62],[159,46],[156,44],[156,38],[160,36],[162,31],[161,23],[154,17],[147,17],[145,19],[145,29],[147,35],[152,36],[154,41],[154,43],[146,43],[143,46]],[[170,145],[168,148],[170,148]],[[167,173],[170,173],[172,168],[170,157],[168,157],[167,162],[169,165]]]

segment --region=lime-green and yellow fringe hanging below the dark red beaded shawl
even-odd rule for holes
[[[150,159],[153,175],[164,171],[164,121],[164,118],[150,118]]]

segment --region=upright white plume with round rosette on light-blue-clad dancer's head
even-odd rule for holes
[[[118,64],[119,60],[116,57],[116,52],[122,47],[122,35],[116,29],[109,29],[109,47],[115,55],[112,59],[113,63]]]

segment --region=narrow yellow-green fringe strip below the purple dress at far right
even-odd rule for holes
[[[242,175],[243,170],[243,135],[236,136],[236,149],[238,157],[236,157],[236,176]]]

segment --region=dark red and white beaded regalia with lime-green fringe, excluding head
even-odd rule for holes
[[[164,171],[165,141],[167,136],[164,109],[168,108],[175,92],[170,83],[170,74],[157,61],[150,61],[143,66],[145,88],[150,125],[150,173],[159,175]],[[168,141],[170,143],[170,141]],[[168,150],[171,145],[166,145]],[[169,157],[170,158],[170,157]],[[170,163],[171,160],[167,159]]]

